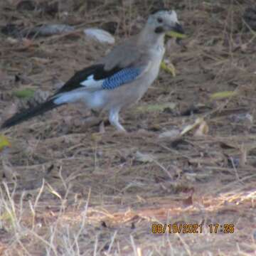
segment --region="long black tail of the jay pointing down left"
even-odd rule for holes
[[[23,121],[31,119],[32,117],[36,117],[38,114],[43,114],[49,110],[53,110],[55,107],[59,107],[60,105],[55,105],[53,100],[48,100],[41,105],[33,107],[28,110],[23,110],[23,112],[14,114],[13,117],[9,118],[1,125],[1,128],[9,128],[16,124],[19,124]]]

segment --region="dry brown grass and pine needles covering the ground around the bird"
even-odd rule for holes
[[[0,34],[1,120],[18,105],[13,90],[51,92],[105,54],[80,28],[115,21],[119,39],[138,31],[149,9],[149,1],[123,1],[87,11],[74,1],[76,11],[50,16],[9,2],[1,4],[1,26],[47,21],[78,31],[17,42]],[[139,105],[174,102],[174,110],[125,111],[125,136],[110,126],[98,134],[84,121],[91,113],[74,106],[4,131],[12,146],[1,153],[1,255],[255,255],[256,44],[241,18],[253,1],[227,2],[173,1],[189,35],[186,47],[167,43],[177,75],[161,72]],[[210,100],[234,90],[228,100]],[[159,138],[197,117],[208,124],[205,136]],[[156,222],[198,223],[203,232],[156,235]],[[233,223],[235,232],[210,234],[211,223]]]

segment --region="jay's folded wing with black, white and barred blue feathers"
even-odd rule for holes
[[[123,51],[120,51],[120,48],[116,49],[112,50],[100,63],[75,73],[53,97],[80,89],[88,91],[113,90],[139,78],[151,65],[151,61],[146,61],[142,53],[138,52],[136,57],[129,57],[131,46],[126,47]]]

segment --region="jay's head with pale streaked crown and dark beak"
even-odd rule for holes
[[[155,11],[149,16],[147,25],[154,30],[154,33],[175,32],[182,35],[185,33],[178,22],[176,11]]]

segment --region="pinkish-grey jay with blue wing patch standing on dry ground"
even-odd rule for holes
[[[125,132],[119,123],[119,112],[138,102],[156,79],[165,52],[164,36],[169,31],[184,33],[176,12],[154,12],[137,36],[128,38],[94,65],[75,73],[46,102],[14,114],[1,127],[14,126],[61,105],[84,102],[91,110],[108,112],[110,124]]]

